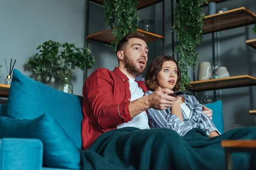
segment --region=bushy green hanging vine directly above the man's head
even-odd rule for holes
[[[122,37],[134,32],[138,27],[137,0],[105,0],[103,3],[104,19],[113,28],[115,39],[111,43],[115,47]]]

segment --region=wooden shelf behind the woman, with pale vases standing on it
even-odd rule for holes
[[[191,87],[187,88],[189,91],[208,91],[225,88],[239,88],[256,85],[256,78],[249,75],[233,76],[220,79],[190,82],[190,85]]]

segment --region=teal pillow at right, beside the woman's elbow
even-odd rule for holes
[[[221,134],[224,133],[222,101],[218,100],[214,103],[208,103],[205,106],[212,109],[212,122]]]

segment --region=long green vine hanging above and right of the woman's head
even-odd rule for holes
[[[190,85],[188,74],[189,66],[195,69],[198,64],[198,51],[196,45],[199,45],[203,39],[203,3],[208,0],[179,0],[175,9],[176,23],[173,27],[177,31],[178,45],[175,52],[180,54],[179,65],[181,70],[181,89]]]

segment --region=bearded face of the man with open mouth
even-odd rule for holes
[[[124,54],[125,69],[134,76],[142,74],[148,61],[146,42],[138,38],[129,39]]]

